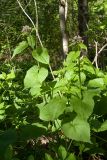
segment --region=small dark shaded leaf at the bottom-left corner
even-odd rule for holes
[[[5,160],[12,160],[12,157],[13,157],[13,148],[12,148],[11,145],[9,145],[6,148],[4,157],[5,157]]]

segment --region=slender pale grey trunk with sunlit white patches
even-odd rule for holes
[[[59,18],[60,18],[60,29],[61,29],[61,35],[62,35],[62,51],[63,51],[64,58],[68,53],[68,35],[66,32],[67,10],[68,10],[67,0],[60,0]]]

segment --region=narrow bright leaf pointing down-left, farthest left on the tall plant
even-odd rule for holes
[[[20,42],[19,45],[15,48],[12,58],[15,57],[17,54],[22,53],[27,47],[28,43],[26,41]]]

